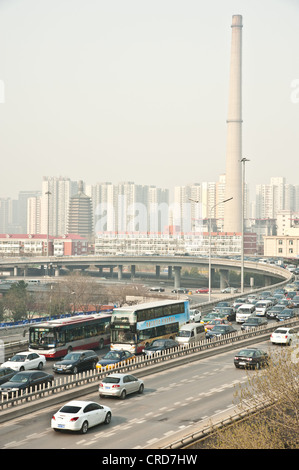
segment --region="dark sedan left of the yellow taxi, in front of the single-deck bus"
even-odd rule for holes
[[[99,357],[92,350],[73,351],[67,354],[62,361],[55,362],[54,372],[58,374],[77,374],[83,370],[95,369]]]

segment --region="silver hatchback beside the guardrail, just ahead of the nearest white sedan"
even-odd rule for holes
[[[129,393],[143,393],[144,383],[130,374],[110,374],[99,385],[100,397],[120,397],[123,400]]]

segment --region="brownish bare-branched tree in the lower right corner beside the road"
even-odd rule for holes
[[[272,355],[268,367],[248,371],[248,383],[238,388],[235,398],[241,408],[250,404],[257,408],[264,405],[264,409],[218,430],[210,439],[209,448],[298,449],[298,345],[295,348],[281,347],[278,354]]]

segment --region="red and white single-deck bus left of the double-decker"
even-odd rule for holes
[[[59,318],[30,326],[29,351],[47,359],[76,349],[102,349],[110,344],[111,313]]]

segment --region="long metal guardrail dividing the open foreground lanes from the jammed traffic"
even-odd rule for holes
[[[292,319],[283,322],[284,326],[299,326],[299,319]],[[184,362],[184,358],[190,362],[200,359],[200,353],[203,352],[212,352],[213,350],[217,350],[219,352],[220,347],[224,347],[226,345],[230,345],[235,347],[236,344],[244,342],[244,340],[253,339],[255,340],[257,337],[260,339],[264,337],[268,337],[268,335],[276,329],[275,326],[267,326],[267,327],[258,327],[250,332],[243,332],[237,331],[235,333],[231,333],[226,335],[223,338],[216,338],[212,340],[203,340],[195,345],[187,345],[181,346],[178,348],[174,348],[170,352],[162,352],[162,353],[155,353],[150,357],[143,357],[137,356],[135,359],[132,360],[130,364],[121,363],[118,367],[111,367],[109,369],[102,368],[101,371],[86,371],[82,374],[77,374],[74,377],[72,376],[64,376],[59,378],[59,380],[55,383],[55,385],[43,388],[36,392],[30,391],[29,393],[23,393],[20,396],[17,396],[17,393],[12,398],[7,399],[6,395],[1,396],[0,401],[0,411],[5,411],[11,407],[15,408],[17,405],[21,405],[24,403],[32,403],[32,401],[49,395],[55,395],[59,393],[63,393],[69,391],[71,389],[75,389],[78,395],[82,394],[83,386],[88,384],[93,384],[98,382],[107,374],[114,372],[143,372],[147,371],[151,373],[153,368],[156,371],[156,368],[159,366],[165,365],[167,367],[175,367],[178,362]],[[46,405],[45,405],[46,406]],[[1,418],[1,413],[0,413]]]

